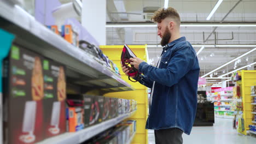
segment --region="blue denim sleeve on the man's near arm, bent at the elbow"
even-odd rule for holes
[[[155,82],[171,87],[193,68],[195,61],[196,54],[185,45],[174,53],[166,68],[156,68],[142,62],[139,64],[139,72]]]

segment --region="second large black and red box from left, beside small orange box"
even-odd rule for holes
[[[43,59],[44,73],[44,134],[45,138],[66,132],[65,66]]]

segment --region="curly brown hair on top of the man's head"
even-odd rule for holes
[[[179,14],[177,10],[172,7],[168,7],[167,9],[160,8],[156,10],[152,17],[152,20],[154,22],[162,22],[162,20],[164,20],[166,17],[171,17],[178,23],[178,25],[181,25],[181,18],[179,17]]]

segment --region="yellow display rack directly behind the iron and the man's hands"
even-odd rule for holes
[[[143,61],[147,61],[147,46],[146,45],[128,45],[135,55]],[[120,63],[120,55],[124,45],[102,45],[100,49],[112,59],[114,63]],[[121,65],[118,64],[121,69]],[[148,117],[148,88],[141,85],[139,82],[131,82],[128,77],[120,72],[121,77],[128,82],[132,87],[136,88],[135,91],[117,92],[105,94],[107,97],[121,98],[121,99],[135,99],[137,101],[137,113],[130,119],[136,120],[136,135],[133,143],[148,143],[148,130],[145,129]]]

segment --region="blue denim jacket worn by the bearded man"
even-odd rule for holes
[[[139,83],[153,88],[155,81],[146,129],[179,128],[190,134],[196,115],[199,71],[196,52],[185,37],[164,47],[159,68],[146,62],[139,64],[143,74]]]

